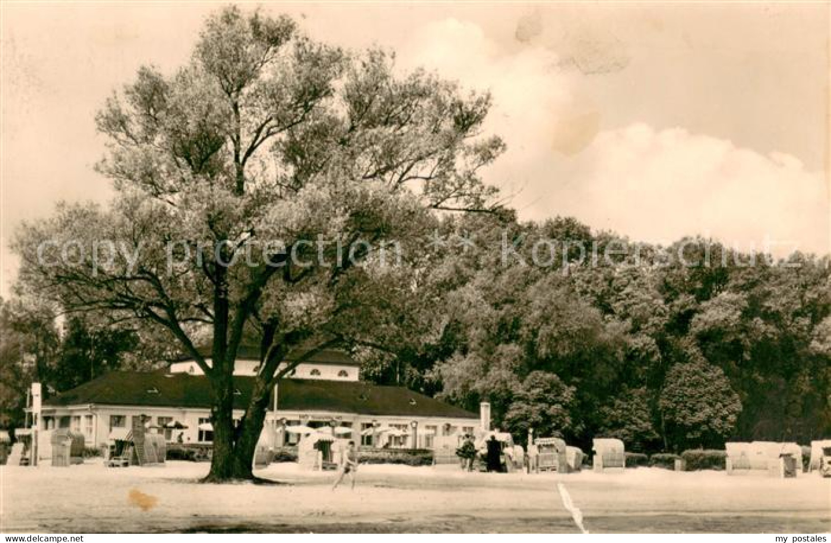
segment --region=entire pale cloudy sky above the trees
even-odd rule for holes
[[[21,221],[111,197],[96,110],[140,66],[187,61],[221,5],[2,3],[0,296]],[[508,151],[484,179],[522,219],[831,252],[829,4],[259,5],[489,90]]]

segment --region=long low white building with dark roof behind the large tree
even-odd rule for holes
[[[302,352],[288,356],[289,364]],[[207,360],[210,363],[209,360]],[[234,418],[243,415],[254,383],[258,352],[240,350],[234,370]],[[404,387],[359,379],[359,365],[340,350],[323,350],[280,380],[264,425],[276,445],[299,439],[292,427],[331,427],[341,437],[371,447],[433,448],[436,437],[474,433],[479,415]],[[171,443],[209,444],[208,379],[194,360],[154,372],[112,372],[47,399],[40,428],[70,428],[86,445],[100,446],[132,428],[135,418]],[[289,428],[288,431],[286,428]],[[39,439],[40,441],[40,439]]]

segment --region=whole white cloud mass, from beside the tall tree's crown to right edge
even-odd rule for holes
[[[512,193],[522,218],[574,216],[632,239],[686,235],[736,247],[765,240],[829,252],[824,175],[783,153],[760,154],[728,139],[645,124],[600,131],[601,114],[580,76],[543,46],[507,50],[472,22],[445,19],[414,32],[405,67],[435,67],[464,86],[489,89],[489,130],[508,151],[486,179]]]

